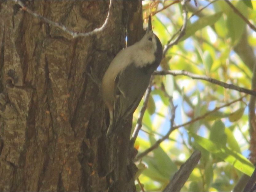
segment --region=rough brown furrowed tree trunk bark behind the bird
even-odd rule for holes
[[[100,27],[109,7],[23,2],[76,32]],[[126,27],[132,43],[141,37],[141,2],[113,2],[104,31],[76,39],[19,8],[0,2],[0,191],[135,190],[130,129],[105,138],[108,112],[87,73],[102,78]]]

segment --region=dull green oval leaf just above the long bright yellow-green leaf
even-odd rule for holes
[[[223,146],[226,145],[227,136],[225,134],[225,125],[221,120],[215,121],[211,127],[210,140],[215,143],[220,143]]]

